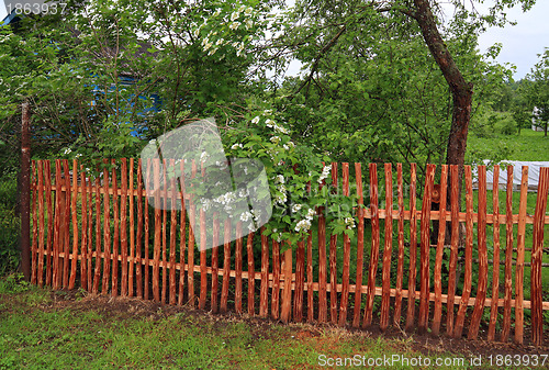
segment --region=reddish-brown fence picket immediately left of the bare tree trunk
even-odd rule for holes
[[[440,333],[440,317],[442,316],[442,258],[446,238],[446,193],[448,189],[448,166],[442,165],[440,170],[440,193],[439,193],[439,212],[440,221],[438,223],[438,239],[437,251],[435,257],[435,312],[433,314],[433,334]]]

